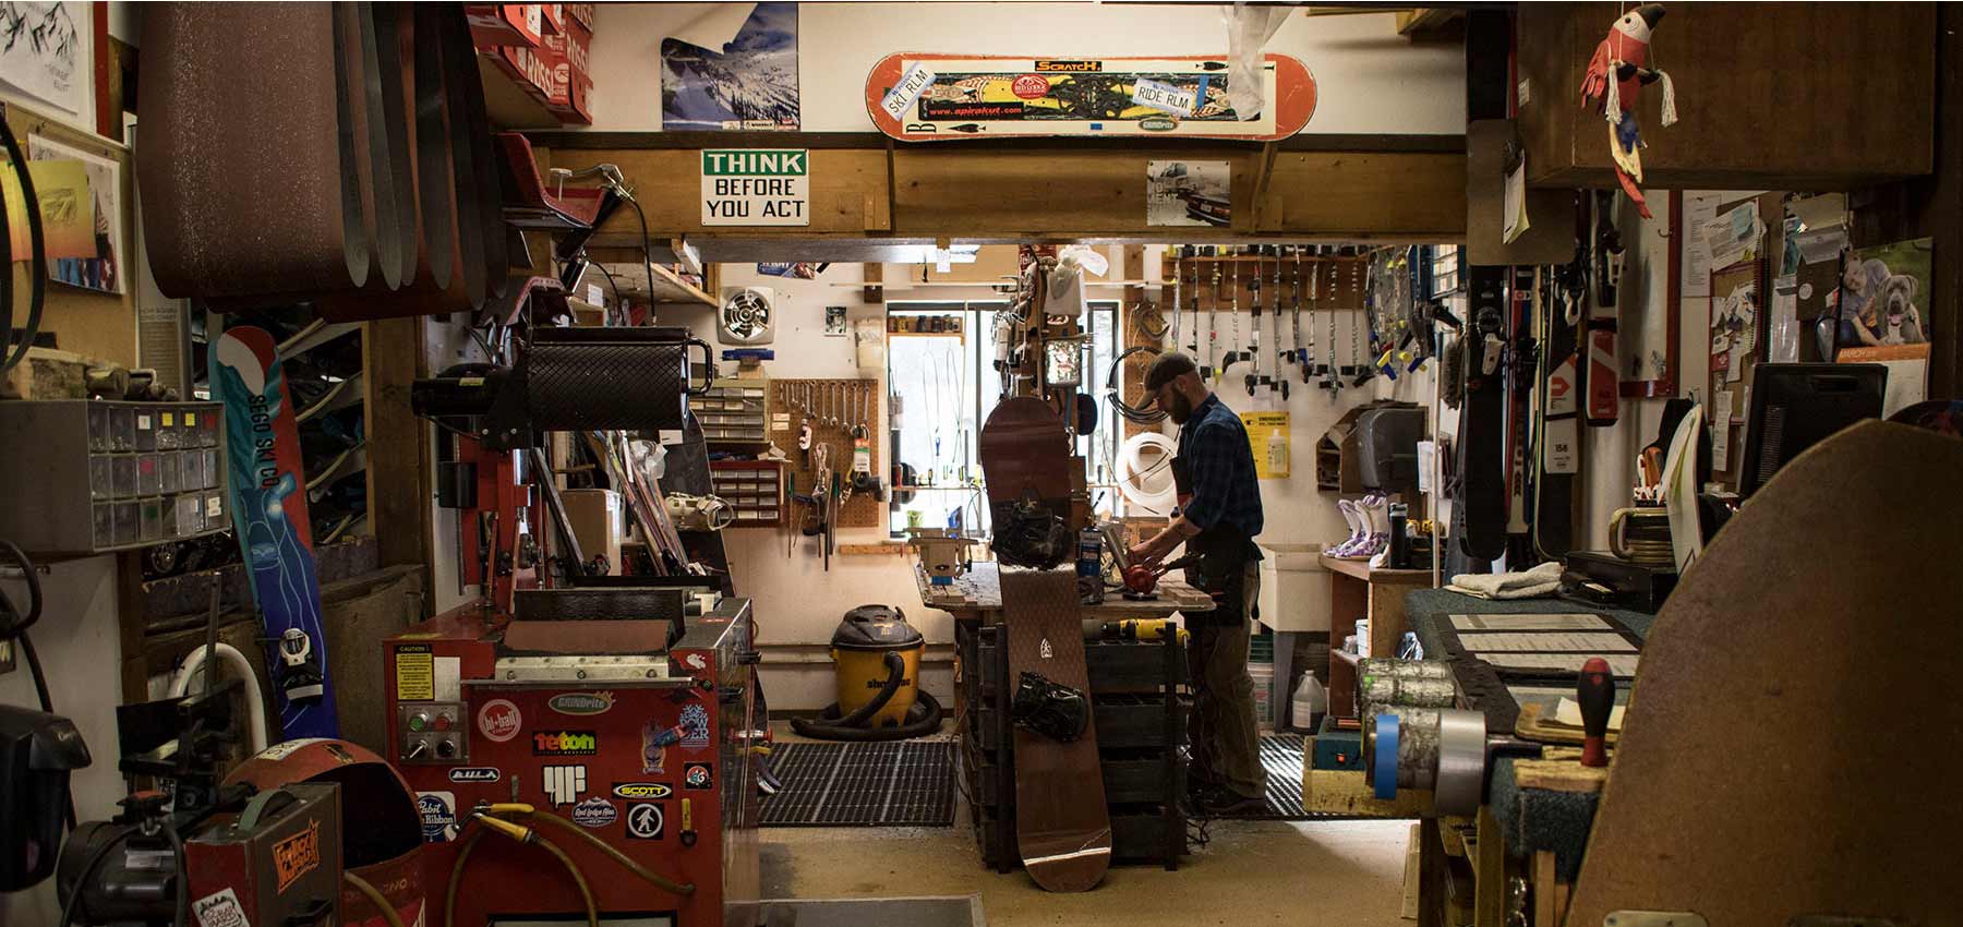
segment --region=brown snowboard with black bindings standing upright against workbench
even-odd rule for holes
[[[1035,520],[1040,511],[1066,518],[1070,511],[1070,436],[1064,422],[1040,399],[1005,399],[987,416],[980,438],[982,473],[997,536],[1003,515],[1021,509],[1019,518]],[[1084,670],[1084,623],[1078,615],[1078,575],[1070,566],[1076,552],[1064,530],[1064,566],[1007,566],[999,560],[1003,632],[1007,634],[1009,689],[1027,680],[1074,693],[1054,699],[1056,715],[1082,713],[1082,733],[1060,738],[1048,725],[1019,717],[1011,750],[1015,762],[1015,845],[1038,886],[1048,892],[1088,892],[1111,866],[1111,817],[1105,805],[1103,772],[1097,762],[1097,729],[1089,719],[1089,676]],[[1023,695],[1015,695],[1023,701]],[[1072,711],[1074,709],[1074,711]],[[1017,711],[1021,715],[1021,711]],[[1076,731],[1076,729],[1072,729]]]

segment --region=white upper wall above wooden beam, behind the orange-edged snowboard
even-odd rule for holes
[[[662,39],[711,4],[601,4],[593,27],[593,130],[662,130]],[[901,51],[976,55],[1225,55],[1217,6],[1184,4],[801,4],[805,132],[875,132],[866,75]],[[1305,134],[1462,134],[1464,51],[1413,45],[1394,14],[1290,16],[1266,51],[1296,55],[1317,82]]]

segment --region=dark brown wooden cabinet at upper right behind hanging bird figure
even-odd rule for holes
[[[1604,4],[1519,4],[1527,183],[1616,187],[1608,122],[1582,73]],[[1926,175],[1936,145],[1936,4],[1669,4],[1649,65],[1676,84],[1637,100],[1645,189],[1851,189]]]

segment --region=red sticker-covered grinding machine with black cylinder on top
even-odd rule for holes
[[[675,328],[534,328],[512,367],[412,391],[451,442],[440,483],[459,530],[489,540],[459,564],[481,601],[383,644],[387,758],[416,793],[432,927],[756,923],[750,601],[691,566],[620,448],[685,430],[689,346]],[[648,538],[644,572],[579,554],[538,452],[550,430],[601,454]],[[552,552],[510,532],[546,520]]]

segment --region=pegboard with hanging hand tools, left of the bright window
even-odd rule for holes
[[[785,473],[801,495],[817,485],[813,452],[799,448],[799,434],[811,426],[811,450],[824,448],[832,473],[838,473],[840,495],[852,485],[854,434],[864,434],[866,473],[885,479],[879,465],[879,444],[885,432],[879,422],[877,379],[773,379],[769,381],[769,442],[789,458]],[[791,517],[803,518],[805,509],[793,505]],[[885,524],[885,503],[872,489],[850,489],[838,509],[840,528],[875,528]]]

